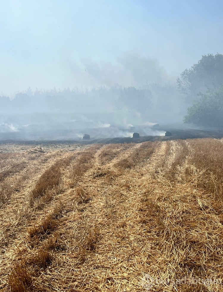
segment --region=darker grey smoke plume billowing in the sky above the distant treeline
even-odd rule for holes
[[[70,60],[70,70],[74,77],[82,71],[81,66]],[[84,66],[83,66],[84,65]],[[117,58],[116,64],[111,62],[95,62],[92,59],[82,59],[85,75],[90,83],[105,86],[119,84],[123,87],[135,86],[142,88],[145,84],[165,84],[170,79],[159,62],[139,53],[125,53]]]

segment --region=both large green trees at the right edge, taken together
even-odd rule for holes
[[[177,79],[179,91],[189,103],[185,123],[223,128],[223,55],[202,56]]]

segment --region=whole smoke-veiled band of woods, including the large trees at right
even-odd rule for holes
[[[45,120],[47,114],[56,115],[54,121],[62,116],[65,120],[69,115],[69,119],[75,119],[77,114],[82,114],[82,119],[102,122],[184,121],[205,127],[223,127],[222,83],[223,55],[208,54],[190,69],[185,69],[176,85],[152,83],[141,89],[116,85],[86,91],[69,88],[32,91],[29,88],[13,99],[1,96],[0,124],[19,124],[19,114],[23,115],[22,122],[27,117],[27,123],[41,121],[44,114]],[[109,114],[113,119],[108,119]]]

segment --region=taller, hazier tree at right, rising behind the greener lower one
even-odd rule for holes
[[[186,69],[177,78],[178,89],[189,100],[196,100],[199,92],[216,89],[223,83],[223,55],[217,53],[202,56],[191,69]]]

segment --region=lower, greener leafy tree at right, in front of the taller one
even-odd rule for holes
[[[185,123],[208,127],[223,126],[223,85],[212,89],[207,94],[200,93],[200,100],[188,108]]]

